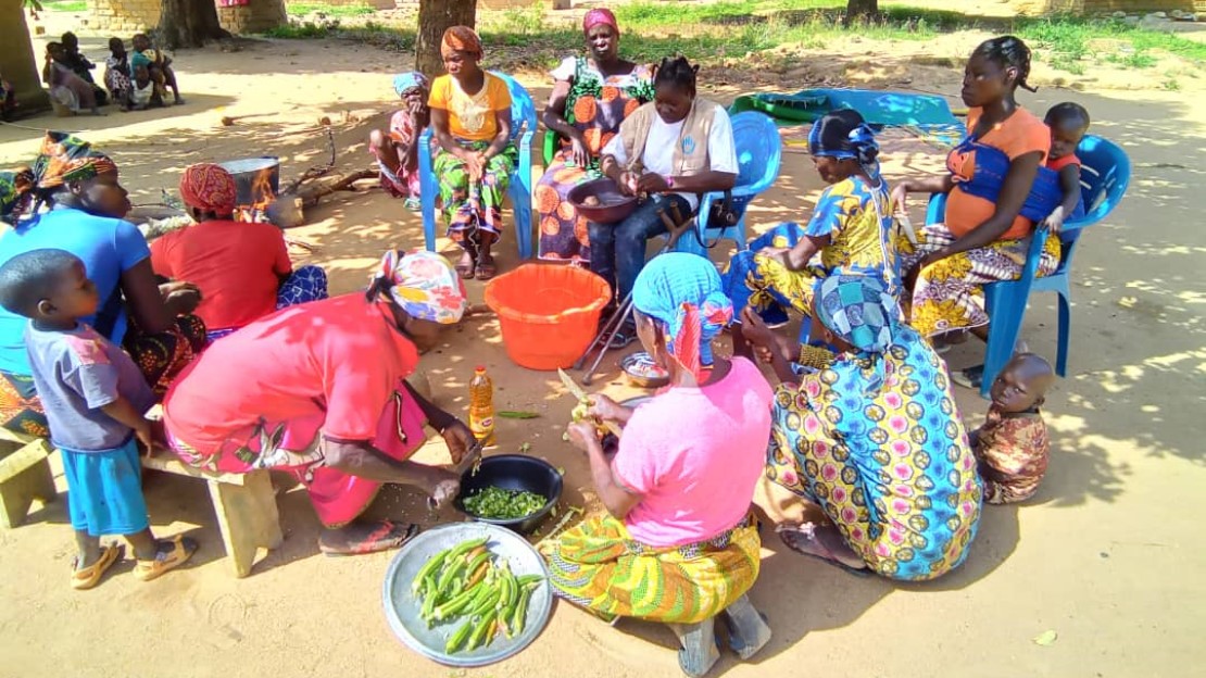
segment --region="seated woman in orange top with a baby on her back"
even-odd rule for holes
[[[947,157],[949,174],[904,180],[892,192],[901,212],[908,193],[948,194],[946,223],[926,226],[917,234],[917,245],[903,238],[897,242],[906,286],[912,288],[909,322],[923,337],[970,329],[987,340],[980,286],[1021,275],[1035,224],[1019,212],[1050,151],[1050,130],[1014,98],[1018,87],[1034,92],[1028,75],[1030,48],[1012,35],[980,43],[964,71],[970,140],[1008,157],[996,200],[958,188],[977,169],[977,151],[966,145]],[[1059,256],[1059,238],[1052,234],[1038,275],[1054,271]]]

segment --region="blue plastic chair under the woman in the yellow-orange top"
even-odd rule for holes
[[[507,82],[511,90],[511,142],[519,146],[520,158],[511,173],[511,185],[507,194],[511,199],[515,212],[515,241],[519,245],[520,258],[532,257],[532,138],[535,136],[535,104],[523,86],[509,76],[490,71]],[[423,131],[418,142],[420,201],[423,216],[423,239],[428,251],[435,251],[435,197],[439,186],[435,173],[432,171],[432,129]]]

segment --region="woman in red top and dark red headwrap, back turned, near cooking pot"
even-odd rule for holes
[[[277,309],[327,298],[326,271],[294,270],[280,228],[234,221],[235,182],[221,165],[189,165],[180,197],[197,224],[156,240],[151,267],[201,291],[197,315],[211,341]]]

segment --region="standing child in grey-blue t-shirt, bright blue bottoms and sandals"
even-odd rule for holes
[[[33,250],[0,267],[0,305],[30,318],[25,349],[46,408],[51,442],[63,452],[68,508],[80,554],[72,589],[92,589],[121,559],[122,534],[134,549],[134,575],[148,581],[193,555],[197,543],[157,540],[142,498],[137,442],[152,444],[145,413],[154,394],[122,349],[82,322],[96,314],[96,286],[83,262],[63,250]]]

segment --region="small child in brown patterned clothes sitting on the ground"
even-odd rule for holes
[[[993,382],[984,425],[968,434],[985,502],[1011,504],[1038,491],[1050,446],[1038,408],[1054,381],[1050,363],[1035,353],[1018,353]]]

